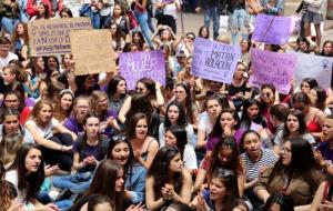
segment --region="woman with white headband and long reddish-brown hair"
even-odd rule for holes
[[[54,104],[53,117],[59,122],[63,122],[73,110],[74,93],[69,89],[62,90],[59,93],[59,101]]]

